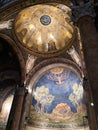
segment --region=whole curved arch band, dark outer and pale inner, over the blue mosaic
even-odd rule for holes
[[[68,59],[53,58],[42,61],[29,72],[26,79],[26,87],[28,88],[28,90],[30,90],[30,92],[32,91],[33,87],[36,85],[36,82],[43,74],[46,73],[46,71],[58,66],[72,70],[74,73],[77,74],[77,76],[79,76],[80,80],[82,81],[82,71],[77,66],[77,64]]]

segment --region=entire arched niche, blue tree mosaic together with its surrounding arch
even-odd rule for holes
[[[87,114],[82,72],[74,62],[64,58],[45,60],[33,68],[27,77],[29,94],[27,104],[25,104],[25,117],[28,119],[28,129],[31,127],[42,129],[42,118],[44,128],[50,129],[49,127],[52,125],[53,128],[69,128],[71,117],[77,124],[75,128],[88,128],[88,121],[84,126],[81,116],[81,113]],[[78,115],[80,124],[83,126],[78,125],[75,114]],[[33,117],[35,120],[38,119],[37,122]],[[47,118],[47,121],[44,121],[44,117]],[[58,124],[54,119],[58,121]],[[69,123],[66,122],[67,119]],[[63,122],[63,126],[60,121]],[[50,125],[48,126],[46,122]],[[70,130],[73,128],[74,124]]]

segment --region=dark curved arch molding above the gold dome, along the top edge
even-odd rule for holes
[[[16,2],[11,2],[10,4],[8,4],[7,6],[3,6],[0,9],[0,20],[4,21],[4,20],[8,20],[10,18],[13,17],[13,15],[15,15],[16,13],[18,13],[19,11],[21,11],[22,9],[28,7],[28,6],[33,6],[33,5],[37,5],[37,4],[49,4],[49,5],[66,5],[66,6],[71,6],[70,0],[16,0]],[[14,11],[13,11],[14,10]],[[7,15],[6,15],[7,14]]]

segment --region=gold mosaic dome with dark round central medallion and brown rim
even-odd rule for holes
[[[52,5],[35,5],[22,10],[15,18],[14,34],[18,44],[30,54],[57,56],[74,40],[69,15]]]

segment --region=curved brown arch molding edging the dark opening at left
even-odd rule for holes
[[[15,55],[18,58],[20,72],[21,72],[20,84],[22,85],[25,80],[25,61],[24,61],[23,55],[21,51],[19,50],[19,48],[17,47],[17,45],[15,44],[15,42],[9,36],[0,33],[0,38],[5,40],[12,47],[13,51],[15,52]]]

